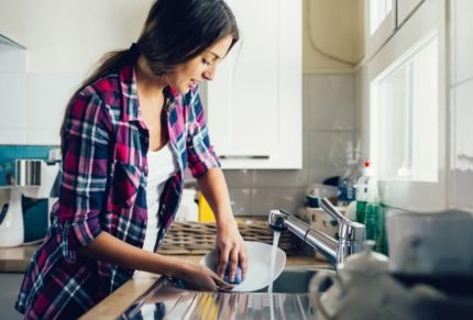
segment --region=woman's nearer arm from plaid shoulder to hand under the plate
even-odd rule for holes
[[[123,267],[173,276],[194,289],[228,289],[228,284],[205,266],[143,251],[102,231],[100,212],[107,201],[113,121],[97,95],[78,95],[66,120],[58,212],[58,223],[67,235],[62,243],[65,258],[73,262],[77,252]]]

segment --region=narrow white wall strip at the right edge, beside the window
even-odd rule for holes
[[[473,211],[473,2],[450,2],[450,199]]]

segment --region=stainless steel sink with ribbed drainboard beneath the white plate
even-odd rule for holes
[[[289,267],[267,288],[256,293],[201,293],[179,288],[160,278],[121,319],[314,319],[311,278],[328,267]],[[329,284],[327,284],[327,287]],[[323,291],[326,288],[321,288]]]

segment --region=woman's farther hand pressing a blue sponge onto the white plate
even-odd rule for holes
[[[238,266],[240,266],[242,279],[244,279],[248,269],[246,249],[237,223],[218,228],[216,241],[217,254],[213,262],[217,265],[217,274],[223,278],[227,265],[230,264],[230,282],[234,280]]]

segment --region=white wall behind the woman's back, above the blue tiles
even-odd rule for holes
[[[0,144],[57,144],[69,96],[103,53],[130,46],[152,2],[0,1],[0,34],[26,47],[23,74],[0,48]]]

